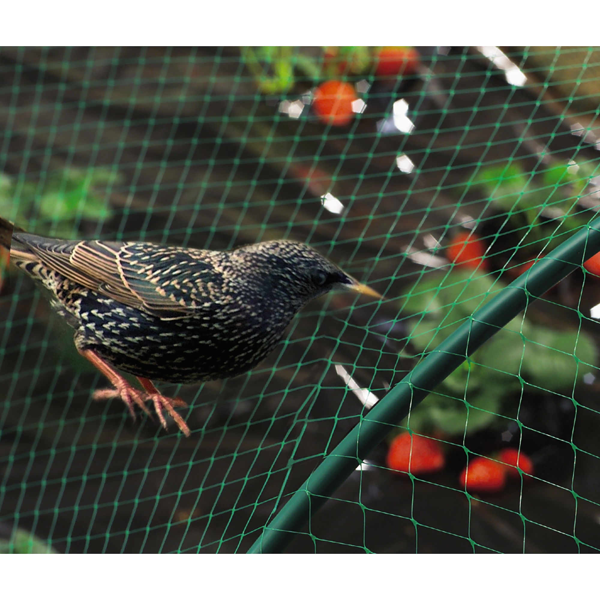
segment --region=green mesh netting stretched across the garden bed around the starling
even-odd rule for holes
[[[0,216],[294,239],[383,295],[158,382],[185,438],[92,400],[0,254],[1,551],[600,551],[599,106],[593,47],[0,50]]]

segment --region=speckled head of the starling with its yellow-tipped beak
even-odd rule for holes
[[[371,287],[357,281],[314,248],[289,240],[260,242],[233,251],[247,268],[260,273],[261,287],[283,292],[299,304],[331,290],[350,290],[381,298]]]

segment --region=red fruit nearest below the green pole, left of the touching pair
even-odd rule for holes
[[[401,433],[389,445],[385,464],[389,469],[420,475],[443,469],[446,460],[440,443],[428,437]]]

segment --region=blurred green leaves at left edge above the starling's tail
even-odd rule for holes
[[[0,214],[40,235],[73,238],[80,220],[112,217],[106,190],[118,182],[118,172],[104,168],[59,170],[44,182],[0,173]]]

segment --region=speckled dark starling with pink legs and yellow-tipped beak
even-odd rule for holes
[[[0,244],[12,224],[0,218]],[[67,241],[15,228],[11,262],[51,293],[74,342],[112,383],[96,400],[120,397],[150,415],[154,403],[186,436],[190,429],[151,380],[194,383],[245,373],[268,355],[292,317],[331,290],[379,293],[313,248],[277,240],[233,251],[150,242]],[[112,365],[112,366],[111,366]],[[113,367],[137,377],[134,388]]]

